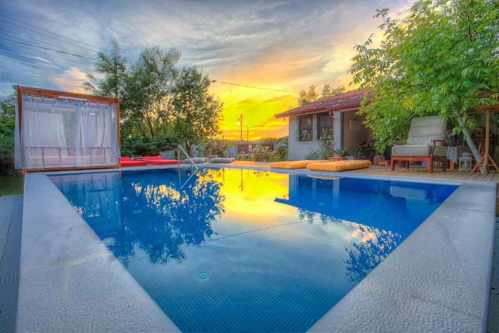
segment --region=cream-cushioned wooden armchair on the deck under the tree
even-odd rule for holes
[[[428,171],[433,173],[433,162],[447,166],[447,121],[439,116],[413,118],[407,142],[394,141],[390,169],[395,170],[395,161],[405,161],[409,169],[410,161],[428,162]]]

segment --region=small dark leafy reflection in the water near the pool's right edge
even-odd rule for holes
[[[350,257],[345,261],[348,270],[346,274],[351,281],[362,280],[397,247],[401,240],[399,234],[391,231],[380,231],[368,226],[358,226],[358,229],[362,236],[371,233],[376,237],[364,243],[352,243],[355,249],[345,249]]]

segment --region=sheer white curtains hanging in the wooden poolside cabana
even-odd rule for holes
[[[118,164],[116,106],[22,96],[21,167]]]

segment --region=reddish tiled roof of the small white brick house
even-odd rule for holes
[[[334,110],[335,112],[341,112],[342,108],[346,109],[346,108],[360,106],[360,103],[364,99],[364,95],[369,92],[370,92],[369,89],[364,89],[360,91],[350,90],[336,96],[317,99],[316,101],[310,102],[305,105],[300,105],[298,107],[295,107],[294,109],[274,114],[274,117],[284,118],[288,116],[306,114],[313,111],[321,111],[321,110],[327,111],[331,109]]]

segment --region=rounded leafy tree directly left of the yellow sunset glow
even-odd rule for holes
[[[208,74],[190,66],[181,69],[172,88],[169,118],[189,154],[194,144],[220,133],[223,103],[208,92],[210,83]]]

